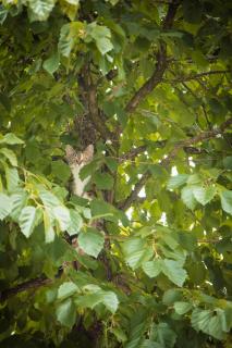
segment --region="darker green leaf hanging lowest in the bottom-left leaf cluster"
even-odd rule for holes
[[[72,327],[76,320],[76,309],[71,299],[61,302],[56,310],[58,321],[66,326]]]

